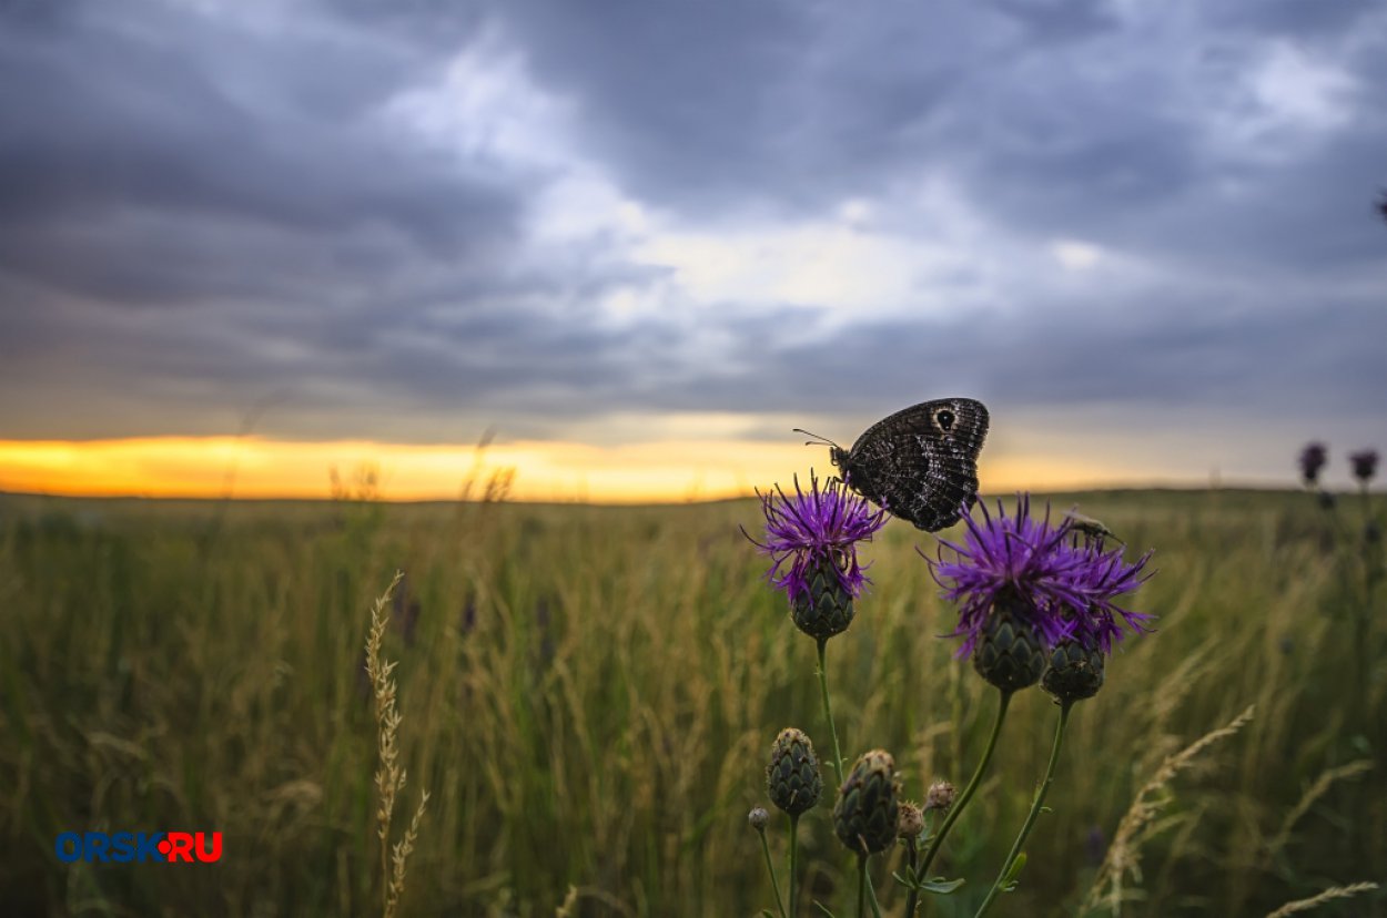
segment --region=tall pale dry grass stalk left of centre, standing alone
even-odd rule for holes
[[[370,610],[370,632],[366,636],[366,675],[370,677],[372,693],[376,698],[376,738],[379,765],[376,768],[376,835],[380,839],[380,878],[381,899],[386,918],[393,918],[399,907],[399,896],[405,892],[405,863],[415,850],[415,840],[419,836],[419,822],[424,815],[424,804],[429,803],[429,792],[423,792],[419,799],[419,808],[409,821],[405,838],[390,845],[390,822],[395,811],[395,797],[405,789],[406,772],[399,765],[399,721],[402,720],[395,707],[395,679],[391,673],[395,663],[380,656],[381,643],[386,639],[386,627],[390,624],[390,598],[399,585],[402,571],[397,571],[390,581],[390,587],[376,600]],[[391,867],[393,861],[393,867]]]

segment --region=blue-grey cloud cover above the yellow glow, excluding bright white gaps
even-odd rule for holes
[[[463,442],[617,410],[852,427],[946,392],[1126,405],[1135,426],[1380,416],[1372,4],[1162,28],[1097,0],[276,8],[293,28],[165,3],[0,11],[7,435],[227,433],[269,394],[262,433]],[[1201,93],[1297,29],[1319,49],[1359,36],[1338,61],[1359,108],[1294,157],[1223,157]],[[1017,273],[981,293],[963,269],[954,312],[890,320],[685,304],[609,234],[528,237],[553,175],[379,118],[481,35],[573,103],[584,155],[681,226],[860,196],[928,237],[893,196],[940,179],[1013,240],[1082,239],[1168,279],[1061,293]],[[616,320],[599,301],[620,288],[669,301]]]

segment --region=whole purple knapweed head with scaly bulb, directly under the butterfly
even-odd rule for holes
[[[865,498],[836,478],[820,487],[813,471],[807,494],[796,477],[793,495],[777,485],[759,496],[766,541],[752,542],[770,555],[766,575],[785,591],[795,624],[818,639],[845,631],[853,620],[853,599],[867,584],[857,562],[857,542],[870,541],[886,524],[886,513],[874,513]]]

